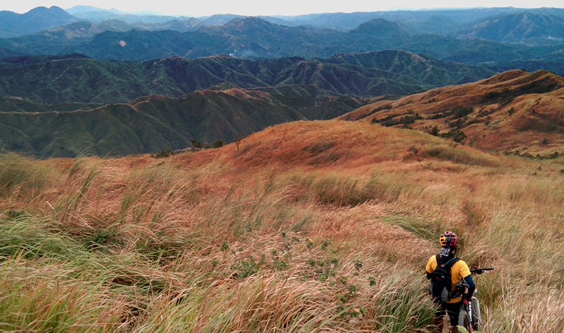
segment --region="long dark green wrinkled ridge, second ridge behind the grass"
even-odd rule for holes
[[[180,97],[221,83],[239,87],[311,85],[326,94],[374,97],[467,83],[494,72],[405,51],[254,61],[232,56],[97,61],[80,54],[0,61],[0,95],[37,102],[128,102],[149,94]]]

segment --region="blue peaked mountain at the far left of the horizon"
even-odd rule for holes
[[[78,21],[78,18],[57,6],[37,7],[23,14],[2,11],[0,14],[0,37],[31,34],[76,21]]]

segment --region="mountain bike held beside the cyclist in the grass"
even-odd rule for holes
[[[476,267],[470,270],[472,274],[482,274],[485,271],[494,270],[494,266],[489,268]],[[480,313],[480,302],[478,298],[472,296],[472,301],[468,301],[468,284],[464,279],[458,284],[455,284],[455,292],[458,291],[462,295],[462,305],[458,312],[458,325],[467,329],[468,332],[479,331],[482,329],[482,313]],[[474,295],[478,289],[474,291]]]

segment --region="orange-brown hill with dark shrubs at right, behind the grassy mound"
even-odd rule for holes
[[[548,71],[508,71],[486,80],[379,101],[341,116],[409,127],[487,150],[564,153],[564,78]],[[436,128],[436,129],[433,129]],[[558,154],[556,156],[558,156]]]

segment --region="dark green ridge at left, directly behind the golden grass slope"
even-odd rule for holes
[[[314,87],[202,90],[180,99],[150,95],[128,104],[65,111],[80,104],[45,105],[0,99],[0,147],[40,157],[130,155],[192,147],[301,119],[332,119],[368,99],[320,95]],[[85,104],[84,106],[88,106]],[[60,107],[57,108],[57,107]],[[54,110],[53,110],[54,109]],[[53,110],[53,111],[51,111]]]

